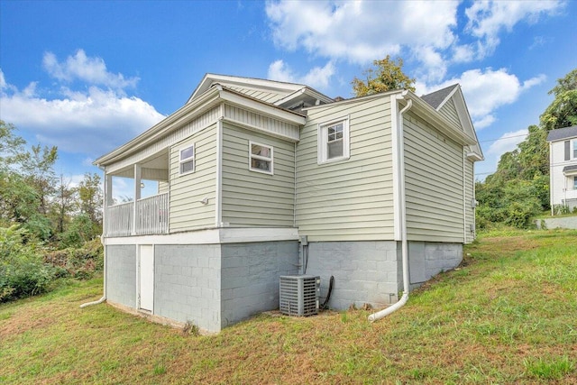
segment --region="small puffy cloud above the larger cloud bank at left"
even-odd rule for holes
[[[51,77],[61,81],[80,80],[92,85],[124,89],[135,87],[139,78],[124,78],[123,74],[113,74],[106,69],[105,60],[87,57],[84,50],[77,50],[74,56],[60,62],[52,52],[46,52],[42,66]]]

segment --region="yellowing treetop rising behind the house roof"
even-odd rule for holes
[[[362,75],[365,80],[353,78],[353,92],[355,96],[365,96],[377,94],[379,92],[391,91],[395,89],[409,89],[415,92],[414,78],[409,78],[403,72],[403,60],[391,60],[387,55],[385,59],[374,60],[374,68],[365,69]]]

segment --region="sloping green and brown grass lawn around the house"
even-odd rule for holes
[[[0,305],[0,383],[577,384],[577,232],[486,234],[465,253],[374,324],[261,315],[198,336],[81,309],[102,280],[73,282]]]

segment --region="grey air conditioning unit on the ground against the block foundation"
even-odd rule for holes
[[[287,316],[312,316],[318,313],[321,278],[313,275],[280,277],[280,313]]]

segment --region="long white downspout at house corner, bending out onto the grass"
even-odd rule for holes
[[[400,98],[404,98],[407,91],[404,91]],[[389,316],[389,314],[403,307],[408,301],[408,247],[407,247],[407,203],[405,201],[405,140],[403,135],[403,114],[406,113],[413,106],[411,99],[407,100],[407,105],[398,112],[398,206],[400,206],[400,234],[401,234],[401,255],[403,262],[403,295],[397,303],[385,309],[382,309],[369,316],[369,321],[374,322]],[[397,108],[395,108],[396,110]]]

